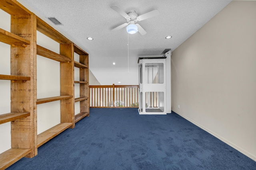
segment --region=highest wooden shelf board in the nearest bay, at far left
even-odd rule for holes
[[[29,45],[30,41],[0,28],[0,41],[9,45]]]

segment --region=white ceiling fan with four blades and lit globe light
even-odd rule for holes
[[[123,10],[121,10],[118,6],[116,5],[112,5],[111,8],[113,10],[115,10],[117,13],[119,13],[121,16],[123,16],[127,23],[124,23],[122,25],[119,25],[118,27],[112,29],[112,31],[116,31],[118,29],[121,29],[123,27],[126,27],[126,31],[129,34],[134,34],[136,32],[139,32],[141,35],[145,35],[147,32],[145,31],[145,29],[143,29],[140,24],[136,23],[137,21],[142,21],[142,20],[146,20],[148,18],[152,18],[154,16],[157,16],[159,14],[158,10],[153,10],[150,12],[147,12],[146,14],[142,14],[140,16],[138,16],[138,14],[136,14],[136,12],[130,12],[128,14],[126,14]]]

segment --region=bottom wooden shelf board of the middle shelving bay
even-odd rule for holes
[[[44,143],[50,141],[50,139],[56,137],[58,134],[62,133],[64,130],[72,126],[73,123],[60,123],[43,133],[37,135],[37,147],[42,146]]]

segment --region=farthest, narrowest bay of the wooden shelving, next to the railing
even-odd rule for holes
[[[80,98],[75,98],[75,102],[80,102],[80,113],[75,115],[75,123],[86,116],[90,116],[90,102],[89,102],[89,56],[88,53],[80,49],[74,44],[74,52],[79,55],[79,62],[74,61],[74,66],[80,68],[79,81],[75,83],[80,84]]]

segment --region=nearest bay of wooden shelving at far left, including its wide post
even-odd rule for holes
[[[0,29],[0,41],[10,45],[10,113],[0,115],[0,124],[11,122],[11,149],[0,153],[0,169],[20,158],[37,155],[36,90],[34,59],[36,57],[35,15],[15,0],[1,0],[0,8],[10,14],[10,32]],[[1,64],[0,64],[1,65]],[[22,129],[22,130],[21,130]]]

